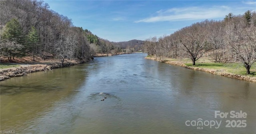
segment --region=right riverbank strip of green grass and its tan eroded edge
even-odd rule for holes
[[[147,56],[146,59],[150,60],[161,60],[156,58],[156,56]],[[211,74],[217,74],[221,76],[226,76],[229,78],[236,78],[239,80],[246,80],[250,82],[256,82],[256,66],[254,69],[252,68],[253,73],[250,75],[245,75],[246,70],[245,68],[238,62],[238,63],[214,63],[210,62],[208,59],[201,59],[198,61],[198,65],[193,66],[189,59],[172,59],[172,58],[165,58],[163,63],[182,66],[184,68],[192,69],[192,70],[199,70],[208,72]]]

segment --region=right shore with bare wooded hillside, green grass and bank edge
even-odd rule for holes
[[[180,66],[255,82],[256,12],[247,10],[242,15],[229,13],[223,17],[193,23],[170,35],[150,37],[144,51],[161,62],[170,58],[170,64],[174,64],[175,59],[186,59]]]

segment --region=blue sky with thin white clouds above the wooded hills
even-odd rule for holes
[[[50,9],[72,19],[74,26],[109,41],[145,40],[170,35],[205,19],[256,10],[256,0],[45,0]]]

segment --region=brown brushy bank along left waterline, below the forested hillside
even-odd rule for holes
[[[135,53],[135,52],[133,52]],[[131,53],[116,53],[116,54],[95,54],[94,57],[102,56],[114,56],[119,54],[131,54]],[[15,63],[1,62],[0,63],[0,81],[6,80],[16,76],[26,76],[32,72],[48,72],[53,71],[54,68],[62,68],[82,64],[90,60],[65,60],[62,64],[58,59],[40,60],[40,57],[34,57],[36,61],[33,62],[33,57],[27,56],[24,58],[16,58]],[[93,59],[91,59],[93,60]]]

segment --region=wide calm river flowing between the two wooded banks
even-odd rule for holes
[[[1,81],[1,132],[256,133],[256,83],[145,56],[97,57],[85,64]]]

